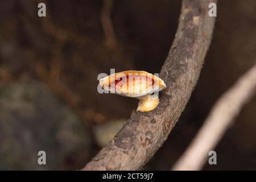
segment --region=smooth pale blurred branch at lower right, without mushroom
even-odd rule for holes
[[[242,106],[256,92],[256,64],[213,106],[195,139],[174,165],[173,170],[199,170],[208,152],[220,141]]]

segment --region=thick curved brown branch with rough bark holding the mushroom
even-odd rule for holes
[[[196,85],[207,54],[213,0],[183,0],[174,43],[160,72],[167,88],[155,110],[133,111],[130,119],[83,170],[137,170],[150,160],[174,128]]]

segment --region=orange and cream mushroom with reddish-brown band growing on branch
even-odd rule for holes
[[[123,71],[100,79],[101,87],[110,93],[138,98],[137,111],[151,111],[159,104],[158,93],[166,88],[164,81],[145,71]],[[153,94],[155,93],[155,94]]]

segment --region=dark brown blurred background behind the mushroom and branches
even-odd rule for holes
[[[46,17],[38,3],[46,3]],[[138,100],[97,92],[99,73],[159,73],[181,1],[0,1],[0,169],[80,169],[117,133]],[[192,97],[144,169],[170,169],[218,97],[256,62],[256,1],[217,6]],[[109,15],[110,18],[109,18]],[[256,97],[216,147],[217,165],[256,169]],[[38,164],[46,151],[47,165]]]

